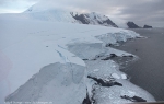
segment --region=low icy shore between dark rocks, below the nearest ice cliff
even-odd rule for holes
[[[144,91],[143,89],[132,84],[129,82],[126,74],[119,71],[119,66],[113,61],[102,61],[97,59],[95,61],[86,60],[85,63],[87,65],[87,74],[91,77],[95,77],[98,79],[103,79],[104,81],[115,80],[122,84],[122,86],[114,85],[114,86],[101,86],[93,84],[94,80],[87,81],[87,88],[90,95],[93,95],[96,104],[126,104],[132,103],[131,101],[120,99],[121,95],[132,96],[140,96],[148,102],[154,102],[154,97]],[[94,71],[95,68],[99,69],[98,71]],[[92,88],[92,89],[91,89]],[[94,91],[93,91],[94,88]]]

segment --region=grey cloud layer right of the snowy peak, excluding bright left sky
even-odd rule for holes
[[[142,23],[164,23],[164,0],[49,0],[71,10],[94,11]],[[151,23],[152,22],[152,23]],[[161,25],[160,24],[160,25]]]

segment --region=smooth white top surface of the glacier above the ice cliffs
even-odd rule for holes
[[[40,68],[49,63],[72,62],[85,66],[79,57],[67,50],[67,44],[103,43],[95,36],[103,34],[105,36],[108,33],[124,32],[125,36],[129,34],[139,36],[121,28],[42,22],[24,18],[10,20],[0,16],[0,22],[1,61],[8,62],[8,66],[1,65],[0,70],[2,76],[0,90],[3,92],[1,99],[14,92]]]

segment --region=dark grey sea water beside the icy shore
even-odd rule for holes
[[[148,38],[129,41],[115,47],[140,59],[121,71],[131,77],[131,82],[150,92],[156,101],[164,101],[164,28],[133,30]]]

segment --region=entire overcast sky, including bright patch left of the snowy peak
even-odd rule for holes
[[[139,25],[164,26],[164,0],[42,0],[69,11],[97,12],[134,21]],[[20,13],[40,0],[0,0],[0,13]]]

